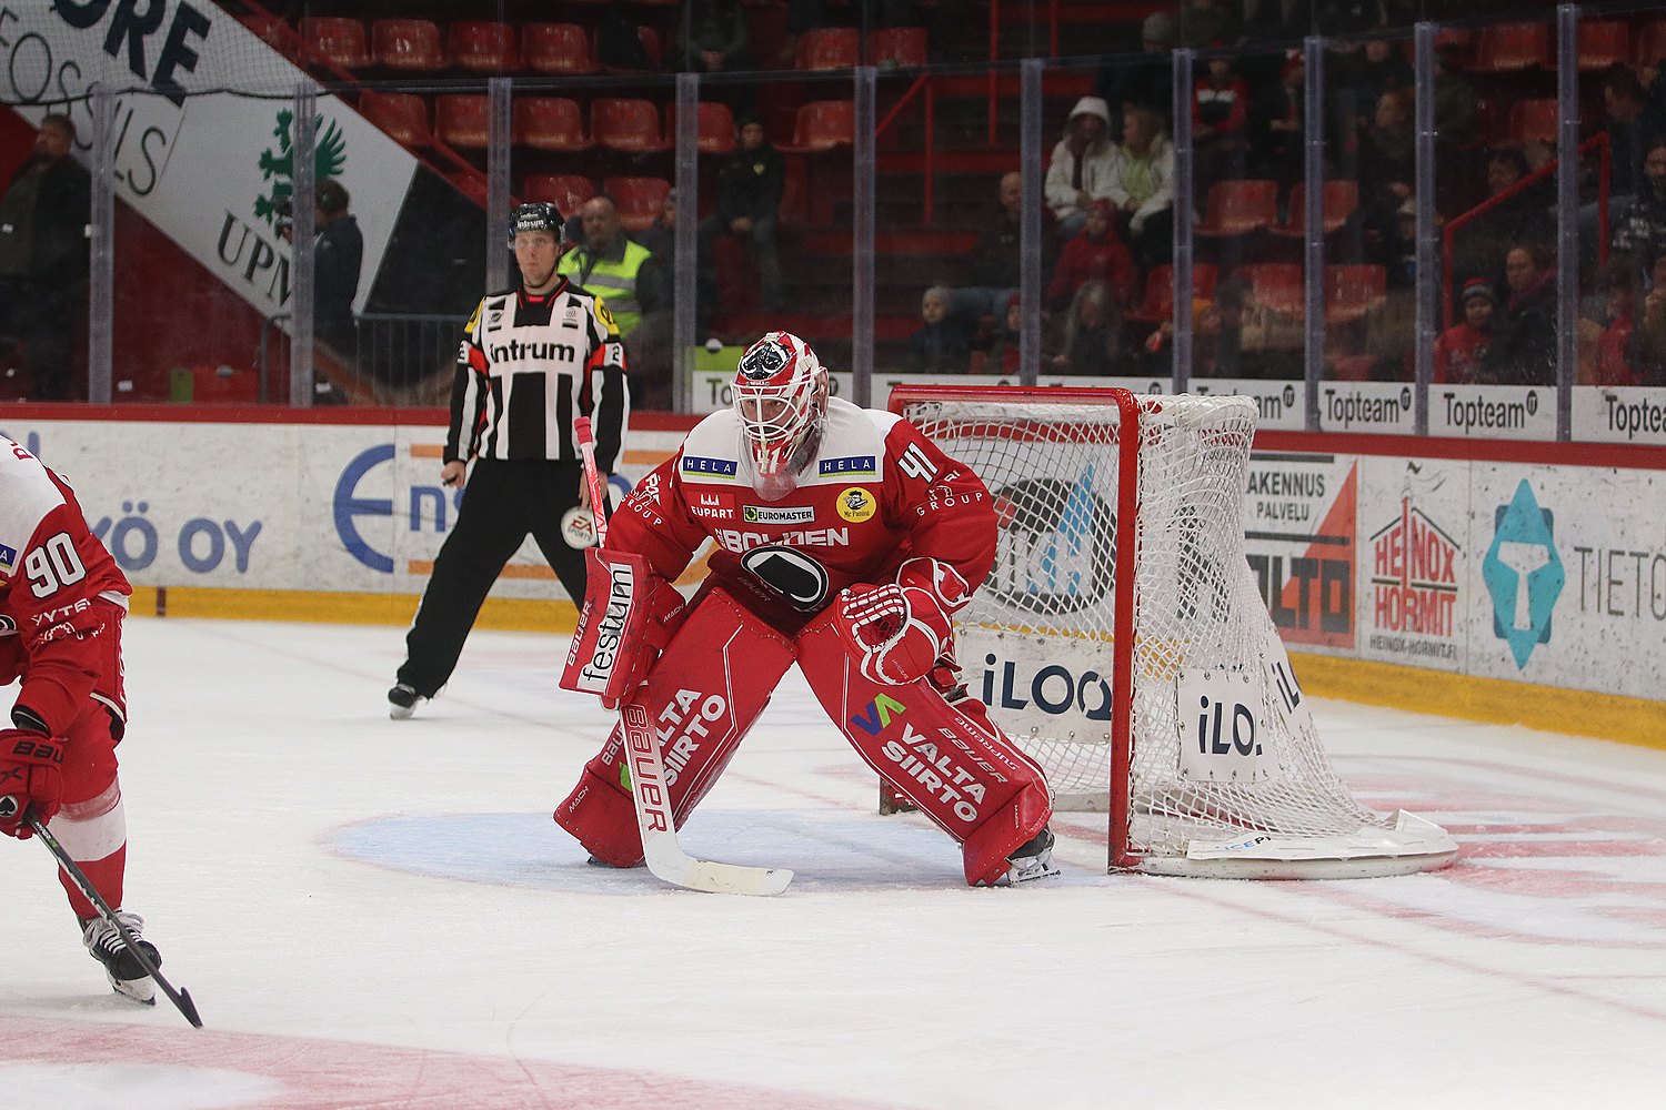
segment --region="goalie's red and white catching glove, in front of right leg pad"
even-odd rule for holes
[[[966,604],[966,581],[946,562],[910,559],[896,581],[848,586],[833,627],[873,682],[908,686],[953,656],[950,614]]]

